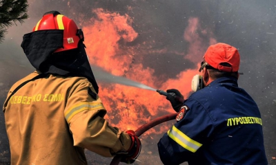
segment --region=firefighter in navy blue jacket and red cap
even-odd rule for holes
[[[158,142],[164,164],[268,164],[262,118],[256,102],[238,87],[239,52],[226,43],[210,45],[196,91],[184,102],[166,98],[178,112],[176,123]],[[183,98],[177,89],[168,89]]]

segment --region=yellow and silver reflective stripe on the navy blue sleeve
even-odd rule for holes
[[[175,126],[172,126],[172,128],[168,131],[168,136],[177,142],[177,144],[193,153],[195,153],[195,151],[202,146],[199,142],[192,140],[190,137],[179,131],[179,129]]]

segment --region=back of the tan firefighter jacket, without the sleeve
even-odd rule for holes
[[[15,83],[37,76],[34,72]],[[83,148],[73,146],[64,117],[66,100],[75,83],[85,78],[49,75],[23,85],[6,100],[6,129],[12,164],[87,164]]]

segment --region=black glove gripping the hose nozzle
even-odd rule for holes
[[[183,99],[184,97],[177,89],[168,89],[167,93],[168,95],[166,96],[166,99],[170,101],[170,104],[172,104],[172,108],[175,109],[176,112],[179,112],[180,108],[183,105],[183,102],[179,102],[179,100],[175,99],[175,96],[178,96]]]

